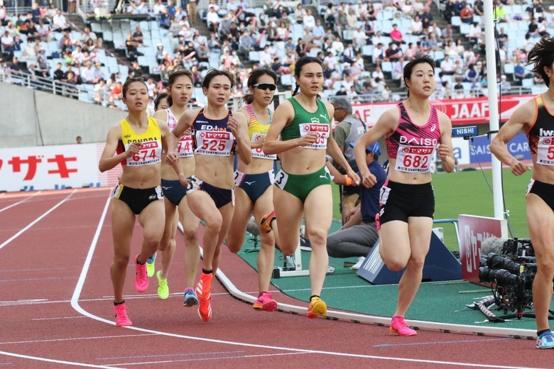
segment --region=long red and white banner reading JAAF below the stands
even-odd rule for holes
[[[499,103],[501,121],[507,121],[512,112],[533,95],[510,95],[502,97]],[[397,103],[358,104],[352,106],[354,113],[368,126],[373,126],[379,116]],[[433,100],[431,104],[450,117],[453,126],[489,122],[489,98]]]

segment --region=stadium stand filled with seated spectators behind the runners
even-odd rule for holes
[[[487,94],[482,0],[201,0],[195,14],[173,0],[91,0],[77,13],[7,5],[0,7],[3,82],[116,109],[124,109],[119,89],[127,77],[145,77],[153,99],[179,67],[195,76],[197,104],[205,103],[199,87],[210,67],[231,70],[237,94],[255,67],[272,68],[280,90],[293,89],[293,65],[303,55],[322,60],[327,99],[403,98],[403,65],[415,53],[438,62],[436,97]],[[506,75],[510,93],[535,93],[540,81],[521,65],[554,29],[554,2],[496,0],[494,11],[497,74]]]

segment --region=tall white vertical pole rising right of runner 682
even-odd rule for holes
[[[499,129],[498,88],[496,86],[496,41],[494,40],[492,1],[484,1],[485,55],[487,57],[487,86],[489,87],[489,127],[491,131]],[[491,140],[496,133],[491,134]],[[491,154],[492,197],[494,217],[504,219],[504,194],[502,193],[502,164]]]

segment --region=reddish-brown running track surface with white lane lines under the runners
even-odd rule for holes
[[[0,194],[1,368],[552,367],[552,353],[536,350],[533,341],[431,330],[400,337],[373,324],[255,312],[219,282],[212,287],[212,321],[204,323],[196,309],[183,307],[181,247],[165,301],[155,279],[136,293],[129,265],[125,298],[134,326],[116,327],[109,192]],[[137,224],[131,255],[140,235]],[[256,294],[256,272],[227,250],[221,270],[239,290]]]

